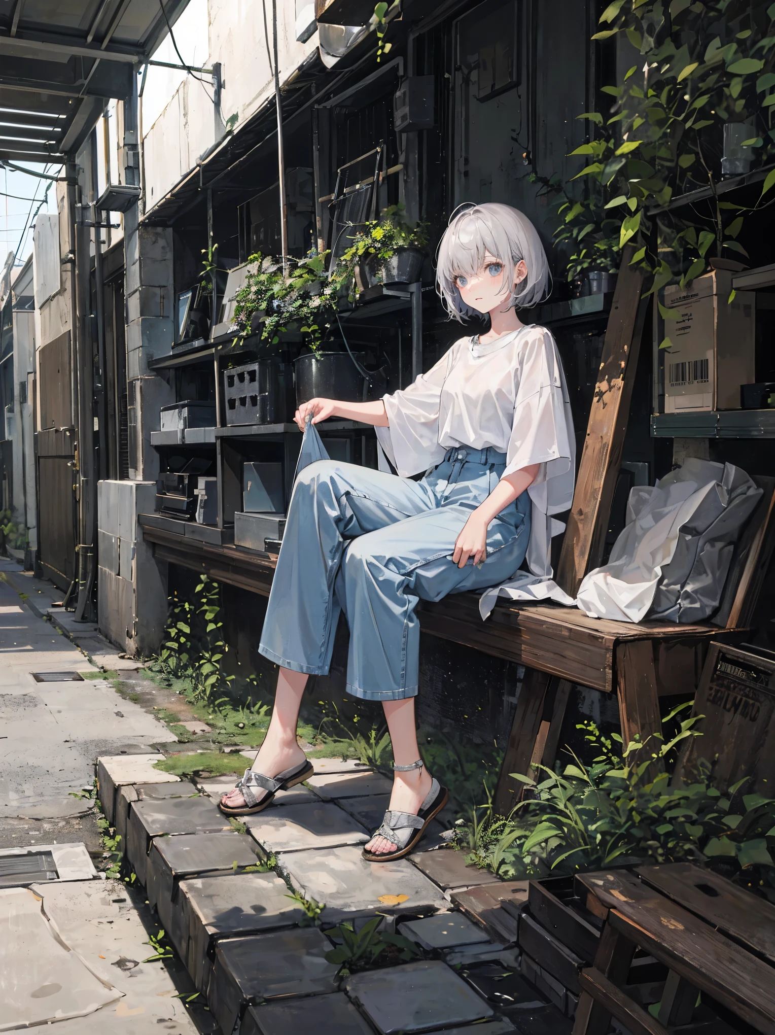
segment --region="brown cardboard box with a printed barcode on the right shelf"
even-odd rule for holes
[[[664,289],[673,346],[664,351],[664,412],[739,410],[740,386],[754,380],[755,295],[738,291],[731,270],[713,270],[686,288]]]

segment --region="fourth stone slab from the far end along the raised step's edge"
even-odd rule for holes
[[[207,990],[215,944],[221,938],[292,927],[303,917],[274,874],[231,874],[180,882],[178,907],[188,931],[186,966],[197,988]]]

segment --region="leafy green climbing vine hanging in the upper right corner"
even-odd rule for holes
[[[753,209],[722,200],[723,127],[744,124],[740,146],[752,161],[775,159],[775,4],[742,0],[614,0],[593,39],[626,37],[638,52],[621,82],[604,86],[607,113],[586,112],[590,140],[571,152],[589,159],[573,177],[534,177],[556,196],[556,240],[568,256],[569,278],[587,269],[616,269],[621,250],[655,274],[652,291],[684,285],[711,256],[746,258],[738,241]],[[769,204],[775,170],[754,208]],[[666,209],[678,195],[710,187],[709,219]],[[656,254],[652,234],[656,230]]]

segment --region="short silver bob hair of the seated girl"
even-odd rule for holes
[[[436,287],[450,318],[474,316],[460,298],[455,276],[473,276],[484,265],[485,254],[499,259],[505,269],[520,260],[528,274],[517,285],[504,284],[508,305],[530,308],[548,294],[549,266],[541,239],[530,219],[510,205],[485,202],[453,212],[439,245]]]

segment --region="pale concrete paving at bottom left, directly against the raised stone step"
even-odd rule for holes
[[[71,954],[78,953],[100,981],[123,994],[118,1003],[88,1016],[57,1021],[58,1035],[148,1035],[168,1030],[173,1035],[197,1035],[183,1003],[175,998],[178,988],[168,968],[158,962],[142,963],[150,955],[148,933],[132,893],[122,882],[37,884],[31,890],[42,898],[47,916]]]

